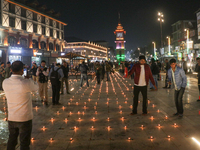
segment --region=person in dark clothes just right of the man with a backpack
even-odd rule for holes
[[[63,94],[63,82],[65,83],[65,87],[66,87],[66,93],[69,93],[69,84],[68,84],[68,73],[69,73],[69,66],[67,64],[66,61],[63,61],[63,65],[61,66],[64,77],[62,78],[61,81],[61,94]]]

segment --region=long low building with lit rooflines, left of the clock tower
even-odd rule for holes
[[[64,48],[65,53],[76,53],[88,57],[91,62],[107,60],[107,47],[93,42],[67,42]]]

